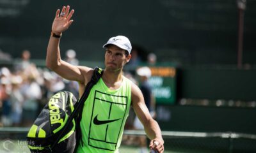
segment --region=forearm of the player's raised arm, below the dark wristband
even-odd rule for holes
[[[46,66],[47,68],[54,69],[58,66],[58,62],[61,60],[60,56],[60,38],[50,37],[47,54],[46,54]]]

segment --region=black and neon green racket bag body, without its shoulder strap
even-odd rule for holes
[[[61,91],[51,97],[38,115],[28,132],[28,147],[31,152],[74,152],[76,147],[75,119],[67,124],[68,117],[74,111],[77,99],[67,91]],[[63,131],[65,127],[65,131]],[[52,145],[62,135],[58,145]]]

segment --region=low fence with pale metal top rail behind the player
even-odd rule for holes
[[[26,140],[28,130],[29,128],[0,128],[0,140]],[[134,136],[132,140],[143,135],[144,131],[124,131],[124,137]],[[256,135],[248,133],[162,131],[162,135],[165,152],[256,152]],[[138,147],[136,143],[130,145]]]

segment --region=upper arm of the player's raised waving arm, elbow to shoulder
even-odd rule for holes
[[[65,61],[58,61],[58,66],[51,68],[61,77],[67,80],[74,80],[81,84],[87,84],[88,80],[92,77],[92,68],[86,66],[74,66]]]

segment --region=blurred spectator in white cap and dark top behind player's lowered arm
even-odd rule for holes
[[[147,66],[144,66],[144,67],[138,68],[136,70],[136,73],[137,73],[137,75],[140,79],[139,87],[140,87],[141,92],[143,94],[145,104],[146,104],[148,110],[150,111],[150,114],[152,115],[152,117],[155,118],[156,117],[156,113],[154,111],[155,100],[154,100],[154,96],[153,96],[152,91],[151,91],[151,87],[148,84],[148,78],[151,77],[151,70]],[[135,129],[140,129],[140,130],[144,129],[144,127],[141,124],[138,117],[135,117],[135,119],[134,119],[134,128]],[[139,152],[140,153],[148,152],[148,150],[147,150],[147,138],[145,136],[139,136],[138,140],[139,140],[139,145],[140,145]]]

